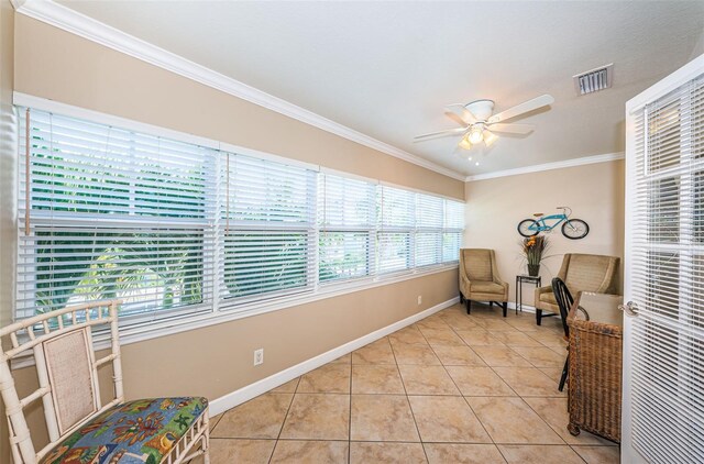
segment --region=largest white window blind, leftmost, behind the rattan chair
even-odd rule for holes
[[[212,150],[37,110],[21,109],[20,133],[16,317],[112,298],[123,314],[209,302]]]

